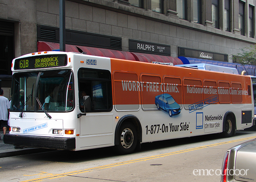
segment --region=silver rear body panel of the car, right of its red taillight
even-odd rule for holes
[[[256,141],[252,141],[237,151],[235,179],[239,181],[256,181]],[[233,171],[230,171],[233,173]],[[247,175],[246,175],[247,174]]]

